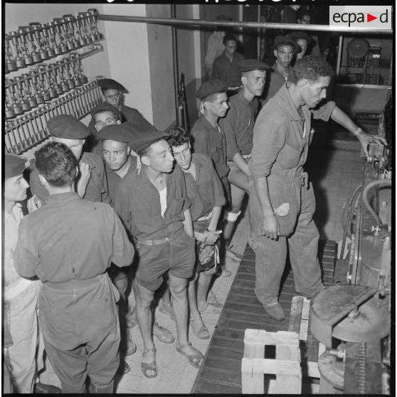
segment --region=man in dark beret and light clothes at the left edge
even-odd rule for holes
[[[60,393],[60,388],[38,382],[38,372],[44,368],[37,317],[41,281],[21,277],[14,265],[18,226],[23,218],[19,201],[26,200],[29,187],[23,179],[25,163],[24,157],[4,154],[4,364],[11,374],[10,393]],[[29,198],[29,213],[40,206],[36,196]]]

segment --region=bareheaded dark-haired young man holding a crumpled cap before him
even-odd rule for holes
[[[211,159],[206,154],[191,153],[191,137],[181,127],[171,127],[168,132],[174,159],[184,172],[196,238],[196,271],[189,280],[190,324],[196,337],[208,339],[210,334],[201,313],[220,313],[223,307],[220,303],[207,302],[207,295],[216,272],[218,247],[215,244],[222,233],[217,231],[217,225],[226,201]],[[170,305],[169,293],[164,295],[163,304],[165,301]]]

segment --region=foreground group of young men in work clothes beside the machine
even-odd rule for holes
[[[190,134],[158,131],[122,104],[122,85],[100,80],[105,103],[92,110],[90,128],[70,115],[49,120],[52,139],[36,152],[24,218],[25,159],[5,155],[5,354],[17,392],[33,391],[42,337],[63,393],[85,391],[88,377],[92,393],[112,393],[117,371],[128,371],[120,356],[137,349],[128,332],[136,324],[144,376],[158,373],[153,337],[176,339],[198,368],[203,354],[189,342],[189,322],[198,338],[210,337],[201,314],[222,309],[210,291],[219,241],[221,257],[240,260],[229,245],[245,194],[255,294],[265,312],[285,318],[278,294],[287,245],[297,292],[323,288],[314,194],[303,169],[312,117],[339,122],[364,152],[381,138],[326,100],[332,69],[324,60],[304,57],[291,68],[284,60],[297,46],[276,40],[270,76],[265,63],[241,60],[236,95],[228,99],[222,80],[198,88],[201,117]],[[259,112],[268,78],[280,86],[272,97],[265,92]],[[162,311],[174,319],[176,338],[153,318],[154,293],[164,284]]]

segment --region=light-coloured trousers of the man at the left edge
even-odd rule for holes
[[[10,331],[14,344],[9,347],[14,393],[33,393],[38,371],[43,369],[43,337],[38,329],[38,294],[41,281],[35,280],[9,301]],[[7,321],[7,319],[5,319]]]

